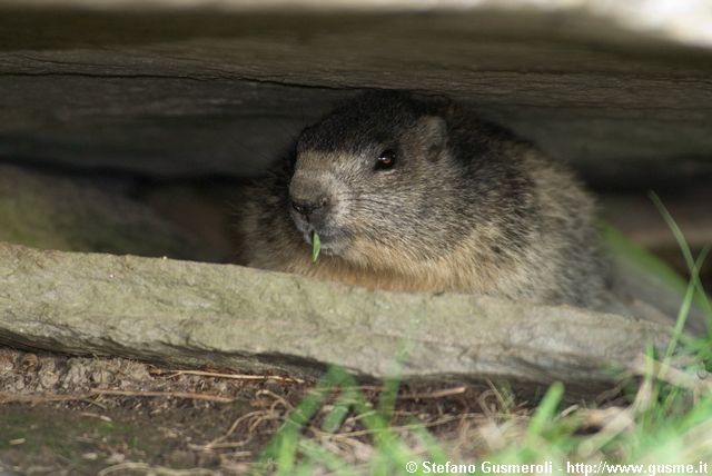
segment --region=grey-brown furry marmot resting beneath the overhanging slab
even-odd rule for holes
[[[570,171],[511,131],[444,98],[378,91],[306,128],[238,228],[257,268],[600,307],[594,211]]]

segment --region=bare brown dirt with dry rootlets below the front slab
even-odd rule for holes
[[[0,348],[0,476],[243,474],[314,384]],[[377,400],[378,387],[360,389]],[[462,385],[404,385],[394,425],[416,417],[457,440],[501,400]],[[332,442],[355,463],[370,450],[359,429],[347,420]]]

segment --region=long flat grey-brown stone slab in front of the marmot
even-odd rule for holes
[[[666,327],[465,295],[372,292],[229,265],[0,246],[0,343],[309,374],[614,378]],[[397,356],[405,349],[403,367]]]

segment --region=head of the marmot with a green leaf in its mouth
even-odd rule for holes
[[[369,92],[305,129],[289,212],[325,255],[373,268],[442,256],[472,227],[442,100]]]

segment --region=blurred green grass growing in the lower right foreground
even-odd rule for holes
[[[706,250],[694,257],[662,202],[654,196],[653,201],[678,239],[691,279],[680,288],[684,298],[670,344],[649,347],[639,371],[622,381],[627,391],[600,406],[571,406],[565,404],[565,387],[555,383],[522,413],[510,391],[495,389],[494,415],[471,423],[472,432],[464,436],[436,434],[417,415],[402,415],[397,379],[387,380],[379,397],[369,399],[347,371],[335,367],[288,415],[254,472],[466,474],[465,466],[452,465],[474,465],[479,474],[485,466],[495,473],[494,465],[507,465],[516,474],[512,465],[551,462],[554,474],[705,474],[704,464],[712,474],[712,379],[700,378],[712,370],[712,334],[683,335],[693,303],[712,315],[699,278]],[[346,440],[358,445],[339,445]]]

